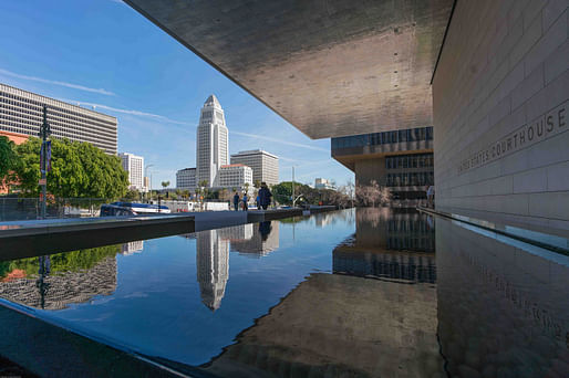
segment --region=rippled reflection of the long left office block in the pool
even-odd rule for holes
[[[62,309],[95,295],[111,295],[115,290],[115,258],[106,258],[90,270],[49,275],[43,285],[39,285],[37,276],[0,282],[0,297],[35,308],[42,308],[43,302],[45,309]]]

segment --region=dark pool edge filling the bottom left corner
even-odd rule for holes
[[[40,377],[215,377],[182,364],[167,367],[0,304],[2,356]]]

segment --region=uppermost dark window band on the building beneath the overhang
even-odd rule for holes
[[[332,149],[386,145],[393,143],[433,140],[433,127],[407,128],[404,130],[352,135],[332,138]]]

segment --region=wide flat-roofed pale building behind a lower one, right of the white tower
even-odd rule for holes
[[[252,181],[279,183],[279,158],[276,155],[252,149],[231,155],[231,164],[242,164],[252,169]]]

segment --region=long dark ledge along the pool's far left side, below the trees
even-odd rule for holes
[[[310,216],[332,210],[335,210],[335,207],[321,206],[311,207],[308,210],[294,208],[265,211],[205,211],[164,216],[0,222],[0,245],[2,246],[0,261]]]

